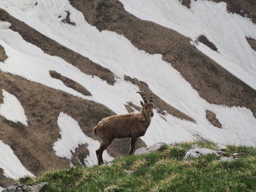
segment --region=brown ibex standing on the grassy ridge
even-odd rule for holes
[[[94,126],[94,134],[100,140],[99,149],[96,150],[98,164],[103,164],[102,153],[111,144],[113,139],[131,137],[129,155],[133,153],[135,142],[138,137],[146,133],[148,126],[151,123],[151,117],[154,112],[154,99],[150,96],[148,99],[143,93],[140,96],[143,101],[140,101],[142,106],[140,112],[129,113],[127,115],[113,115],[108,118],[103,118],[97,126]]]

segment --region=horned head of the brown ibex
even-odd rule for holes
[[[140,104],[142,106],[142,111],[148,115],[153,117],[154,116],[154,104],[155,104],[155,100],[152,97],[152,93],[150,97],[146,97],[143,93],[141,93],[140,91],[138,91],[137,93],[140,94],[140,96],[142,97],[143,101],[140,101]]]

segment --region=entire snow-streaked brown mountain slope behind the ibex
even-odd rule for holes
[[[93,126],[138,112],[136,91],[157,101],[137,147],[256,146],[256,4],[225,2],[1,1],[0,185],[95,164]]]

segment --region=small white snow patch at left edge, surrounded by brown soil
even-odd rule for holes
[[[20,101],[5,90],[2,90],[4,96],[4,103],[0,104],[0,115],[12,120],[13,122],[23,123],[28,126],[28,118],[26,118],[25,111],[20,104]]]

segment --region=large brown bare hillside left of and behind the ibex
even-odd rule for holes
[[[102,104],[0,71],[1,89],[18,98],[29,119],[29,126],[13,123],[0,116],[0,139],[12,148],[23,166],[35,175],[47,169],[69,167],[69,160],[59,158],[53,151],[53,143],[61,137],[57,124],[60,112],[77,120],[89,137],[92,137],[92,128],[99,120],[114,115]],[[141,141],[138,144],[139,147],[145,146]],[[108,148],[113,156],[127,154],[128,150],[129,139],[114,141]],[[86,151],[79,147],[75,155],[79,159]],[[0,180],[6,179],[0,174]]]

